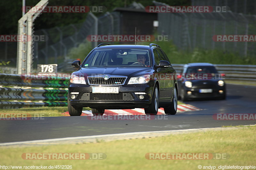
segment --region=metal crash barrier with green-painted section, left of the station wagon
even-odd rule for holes
[[[66,106],[68,78],[0,73],[0,108]]]

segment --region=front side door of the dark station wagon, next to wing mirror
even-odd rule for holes
[[[159,65],[159,62],[161,59],[160,59],[159,54],[156,51],[156,48],[153,49],[153,54],[154,54],[155,64],[157,66],[157,65]],[[165,71],[166,71],[166,68],[157,68],[156,73],[155,73],[155,77],[159,81],[159,100],[165,100],[168,98],[168,94],[166,94],[165,85],[164,85]]]

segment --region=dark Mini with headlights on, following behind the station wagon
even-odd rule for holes
[[[185,64],[178,77],[179,98],[182,101],[196,98],[226,99],[225,74],[219,74],[210,63]]]

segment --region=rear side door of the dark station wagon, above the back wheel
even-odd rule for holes
[[[157,52],[160,56],[161,60],[169,61],[168,57],[164,53],[162,49],[157,49]],[[170,63],[171,64],[171,63]],[[174,69],[172,66],[166,67],[164,70],[165,78],[164,78],[164,91],[166,91],[165,95],[168,99],[172,97],[172,91],[173,91],[173,86],[174,86],[174,79],[173,79],[173,74],[174,74]]]

